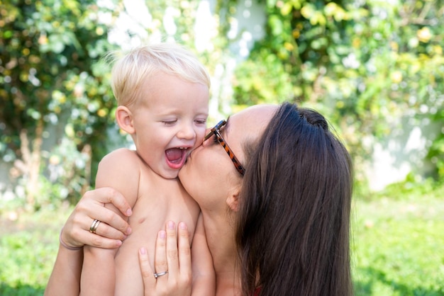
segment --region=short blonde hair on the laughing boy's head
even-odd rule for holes
[[[191,83],[210,88],[209,73],[197,57],[176,43],[158,43],[135,47],[117,58],[111,71],[111,87],[118,106],[129,106],[138,97],[140,85],[157,72],[171,74]]]

